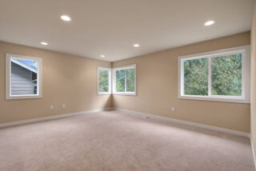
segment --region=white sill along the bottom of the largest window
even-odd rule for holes
[[[229,98],[229,97],[204,97],[204,96],[178,96],[178,99],[197,100],[197,101],[220,101],[230,103],[250,103],[250,99]]]

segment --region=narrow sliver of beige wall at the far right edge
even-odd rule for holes
[[[251,66],[250,66],[250,134],[256,153],[256,3],[251,28]]]

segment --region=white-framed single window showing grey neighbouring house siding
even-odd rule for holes
[[[6,54],[6,99],[42,97],[42,59]]]

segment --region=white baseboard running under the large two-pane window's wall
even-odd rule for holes
[[[139,114],[139,115],[146,116],[146,117],[153,117],[153,118],[161,119],[164,121],[172,121],[172,122],[179,123],[179,124],[190,125],[190,126],[195,126],[195,127],[204,128],[204,129],[212,129],[212,130],[216,130],[216,131],[223,132],[223,133],[231,133],[231,134],[239,135],[242,137],[250,137],[250,133],[244,133],[241,131],[224,129],[224,128],[219,128],[219,127],[215,127],[215,126],[211,126],[211,125],[198,124],[198,123],[194,123],[191,121],[182,121],[182,120],[173,119],[170,117],[162,117],[162,116],[153,115],[153,114],[149,114],[149,113],[136,112],[136,111],[132,111],[132,110],[128,110],[128,109],[117,109],[117,108],[113,108],[113,109],[120,110],[120,111],[123,111],[126,113],[134,113],[134,114]]]

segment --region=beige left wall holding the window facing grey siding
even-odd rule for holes
[[[6,101],[6,53],[42,58],[42,98]],[[111,63],[0,42],[0,123],[110,107],[110,95],[97,95],[98,65]]]

